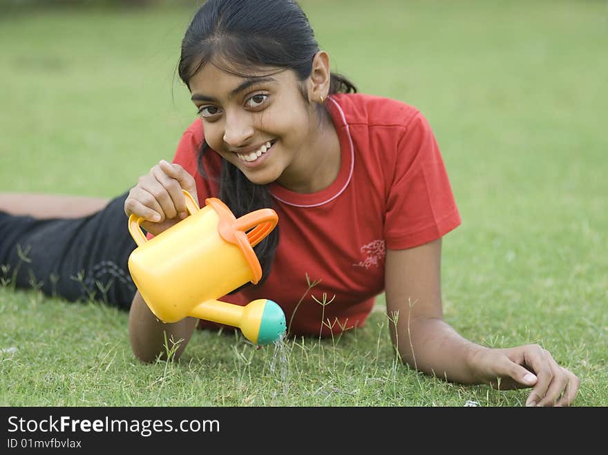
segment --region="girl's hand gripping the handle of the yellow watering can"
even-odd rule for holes
[[[164,159],[140,177],[137,186],[131,188],[124,202],[124,213],[144,218],[142,228],[153,235],[169,229],[188,216],[186,196],[188,191],[198,201],[194,177],[179,164]]]

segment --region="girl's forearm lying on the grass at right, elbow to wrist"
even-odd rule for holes
[[[439,318],[398,322],[397,332],[392,331],[392,340],[403,362],[450,382],[483,382],[475,373],[473,362],[475,354],[487,348],[466,340]]]

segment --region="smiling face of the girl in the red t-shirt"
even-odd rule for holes
[[[295,72],[240,77],[207,64],[189,86],[213,150],[256,184],[300,184],[311,169],[319,125],[314,104],[303,97],[307,86]]]

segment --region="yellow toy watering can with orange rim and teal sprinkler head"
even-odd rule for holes
[[[216,197],[198,204],[187,191],[190,216],[148,240],[142,217],[129,217],[137,248],[129,271],[146,304],[162,322],[187,316],[238,327],[256,345],[275,342],[285,333],[285,313],[272,300],[240,306],[216,300],[247,282],[257,284],[262,267],[253,247],[276,226],[272,209],[236,218]]]

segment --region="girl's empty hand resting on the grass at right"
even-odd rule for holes
[[[484,348],[475,356],[474,364],[482,382],[495,389],[533,387],[526,406],[569,406],[580,385],[579,378],[560,367],[539,345]]]

